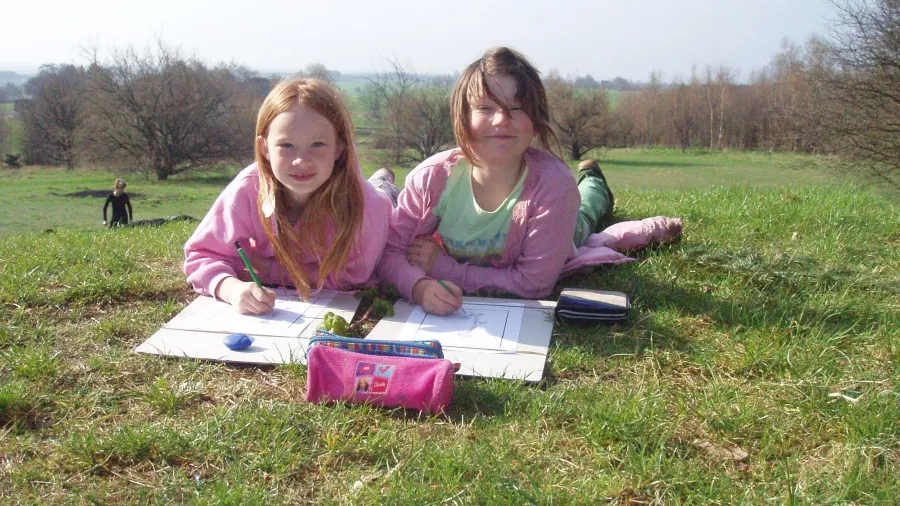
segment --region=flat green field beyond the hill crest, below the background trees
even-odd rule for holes
[[[378,165],[374,153],[361,146],[363,172],[372,174]],[[809,187],[827,185],[834,176],[827,160],[809,155],[768,153],[706,153],[677,150],[610,150],[598,153],[613,190],[621,198],[647,190],[696,190],[715,186],[754,188]],[[576,162],[572,162],[575,166]],[[393,167],[397,181],[412,167]],[[48,228],[98,230],[105,197],[73,197],[85,191],[111,190],[117,177],[128,181],[135,219],[206,214],[213,200],[240,167],[209,173],[192,173],[156,181],[140,175],[100,170],[27,167],[0,170],[4,206],[0,207],[0,236]],[[667,214],[658,209],[654,214]]]

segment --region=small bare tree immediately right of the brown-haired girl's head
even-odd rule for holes
[[[604,90],[579,90],[550,73],[546,79],[550,119],[560,143],[573,160],[606,146],[613,129],[609,98]]]

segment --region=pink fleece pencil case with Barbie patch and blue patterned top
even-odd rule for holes
[[[453,403],[453,363],[411,354],[410,347],[416,348],[409,341],[313,338],[306,356],[306,400],[368,403],[426,413],[446,410]],[[392,349],[398,354],[392,354]]]

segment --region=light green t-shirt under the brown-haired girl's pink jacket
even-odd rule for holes
[[[450,173],[434,213],[441,218],[438,235],[447,253],[459,262],[489,266],[503,256],[512,210],[528,167],[506,200],[493,212],[481,209],[472,193],[472,166],[465,160]]]

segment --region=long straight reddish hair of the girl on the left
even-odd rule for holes
[[[259,167],[259,198],[257,210],[269,241],[275,250],[275,258],[287,269],[294,287],[302,297],[307,297],[312,287],[310,276],[294,261],[292,253],[312,253],[319,261],[321,288],[328,277],[339,282],[341,270],[354,246],[363,219],[363,190],[353,139],[353,122],[350,111],[338,91],[318,79],[291,79],[278,83],[263,101],[256,119],[256,135],[266,137],[269,125],[279,114],[300,104],[325,116],[334,127],[341,154],[334,162],[331,177],[310,196],[297,220],[303,234],[297,234],[288,221],[285,206],[285,189],[275,178],[272,165],[256,145],[256,164]],[[271,193],[276,195],[275,227],[263,213],[263,201]],[[325,224],[335,226],[334,242],[326,244]]]

